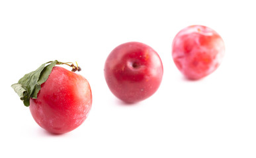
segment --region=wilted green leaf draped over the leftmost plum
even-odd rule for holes
[[[50,62],[50,65],[47,65],[48,63],[44,63],[36,70],[25,74],[17,84],[11,86],[21,100],[23,100],[25,106],[28,107],[30,105],[30,98],[37,98],[37,94],[41,89],[40,85],[46,82],[52,72],[52,68],[58,61]]]

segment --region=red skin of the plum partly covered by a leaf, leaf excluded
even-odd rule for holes
[[[54,134],[64,134],[80,126],[91,109],[89,82],[75,72],[55,66],[41,85],[37,99],[30,99],[36,122]]]

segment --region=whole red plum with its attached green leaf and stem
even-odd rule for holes
[[[69,65],[72,70],[56,65]],[[29,106],[34,120],[48,132],[64,134],[74,130],[91,110],[91,87],[76,70],[81,68],[73,63],[50,61],[12,85],[24,105]]]

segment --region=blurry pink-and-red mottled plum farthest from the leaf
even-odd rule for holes
[[[189,26],[173,39],[173,61],[190,80],[198,80],[214,72],[224,52],[223,39],[206,26]]]

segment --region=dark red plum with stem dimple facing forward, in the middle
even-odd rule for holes
[[[136,103],[153,95],[163,76],[163,65],[157,52],[135,41],[112,50],[104,70],[108,88],[126,103]]]

